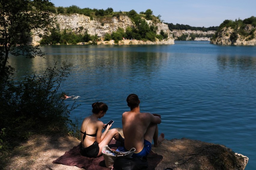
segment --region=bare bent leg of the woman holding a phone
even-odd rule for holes
[[[120,133],[118,133],[118,131],[116,129],[110,129],[108,131],[108,133],[106,134],[105,138],[99,143],[99,154],[98,156],[100,156],[102,154],[102,148],[106,145],[108,145],[112,139],[115,139],[117,141],[123,142],[124,139],[123,137],[120,135]]]

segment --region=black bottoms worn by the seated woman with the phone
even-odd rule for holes
[[[80,143],[80,154],[84,157],[96,158],[99,154],[99,145],[95,141],[92,145],[84,148],[82,143]]]

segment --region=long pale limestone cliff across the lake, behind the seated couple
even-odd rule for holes
[[[53,15],[52,15],[53,16]],[[70,14],[63,15],[58,14],[56,17],[56,26],[59,27],[60,31],[64,29],[69,29],[77,34],[84,34],[86,31],[90,35],[97,34],[99,38],[104,38],[105,34],[111,34],[116,31],[118,28],[123,28],[126,30],[127,27],[133,27],[134,23],[132,20],[126,15],[120,15],[119,17],[103,17],[103,18],[90,18],[81,14]],[[151,20],[146,20],[149,25],[152,24]],[[154,23],[157,26],[157,34],[163,30],[168,34],[168,39],[164,41],[156,41],[156,42],[142,42],[137,41],[130,44],[174,44],[174,39],[172,37],[171,31],[168,28],[168,25],[157,22]],[[34,38],[34,44],[40,40],[39,38]],[[105,42],[100,42],[102,44],[106,44]],[[108,42],[107,44],[111,44]],[[125,44],[124,42],[120,42],[120,44]],[[128,43],[129,44],[129,43]]]

